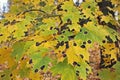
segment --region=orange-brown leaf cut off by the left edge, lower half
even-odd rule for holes
[[[11,48],[0,48],[0,79],[11,79],[10,74],[13,66],[16,65],[15,60],[11,57]]]

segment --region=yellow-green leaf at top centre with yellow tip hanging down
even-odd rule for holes
[[[67,21],[70,21],[70,25],[68,26],[70,30],[74,29],[75,31],[79,31],[80,27],[77,24],[77,21],[79,21],[79,18],[82,17],[79,15],[81,12],[78,8],[76,8],[73,4],[73,1],[65,1],[63,2],[64,5],[61,6],[63,11],[58,11],[58,14],[64,14],[61,16],[62,22],[66,23]],[[71,7],[69,7],[71,5]],[[74,27],[76,26],[76,27]]]

